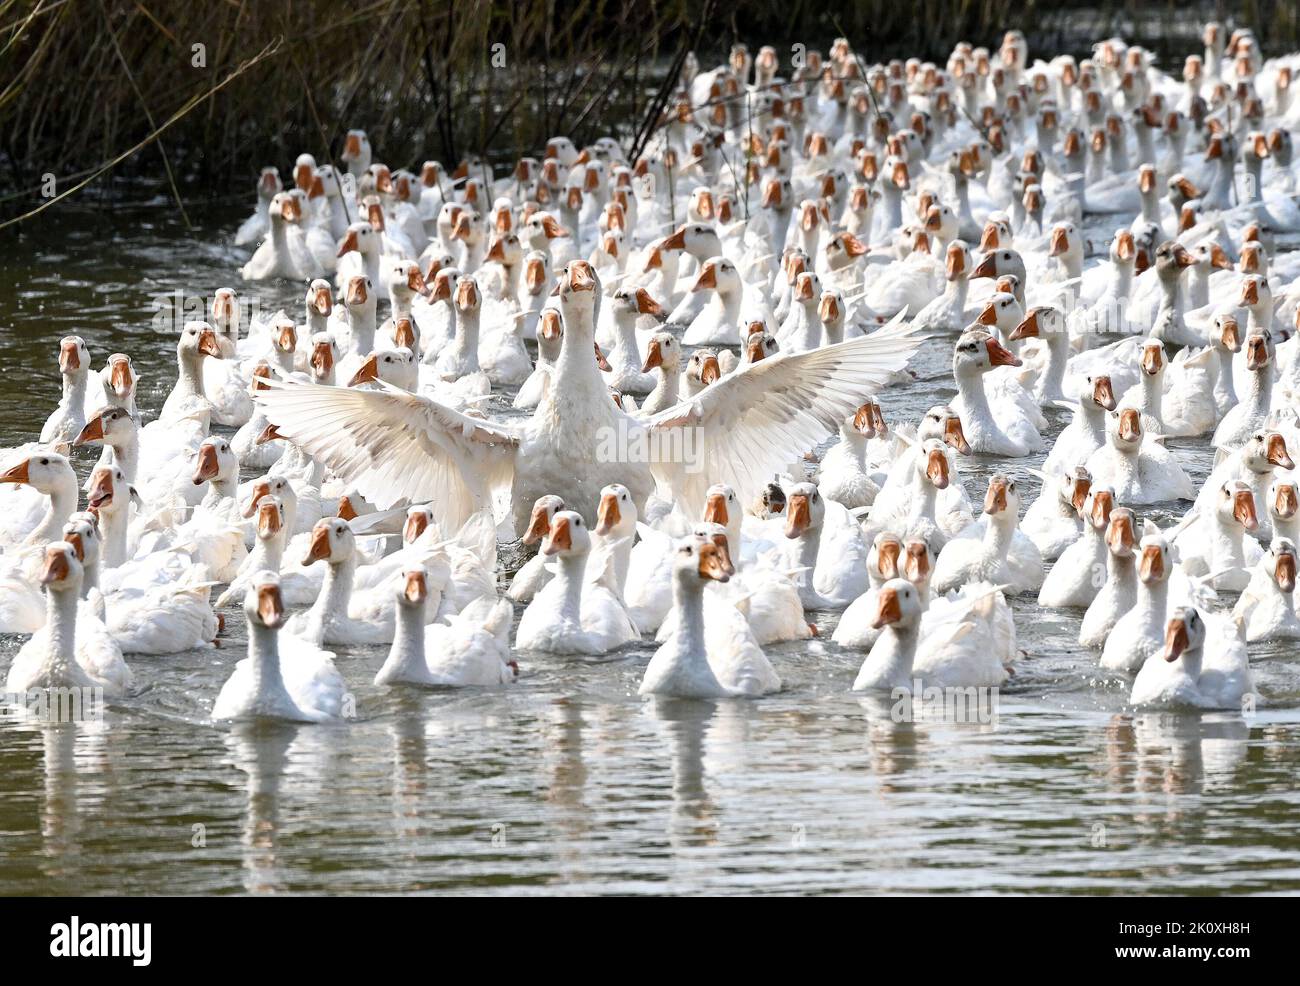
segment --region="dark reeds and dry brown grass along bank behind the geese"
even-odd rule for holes
[[[1054,0],[602,3],[330,0],[161,4],[0,0],[0,222],[104,176],[147,177],[177,202],[243,194],[263,164],[334,157],[361,126],[385,160],[510,164],[555,134],[644,144],[688,51],[710,68],[734,42],[826,51],[841,33],[874,59],[942,60],[959,39],[1022,29],[1035,51],[1086,55],[1119,34],[1165,53],[1208,17],[1300,47],[1300,10],[1274,0],[1127,5]],[[798,40],[793,40],[798,39]],[[789,51],[779,48],[783,72]],[[104,185],[108,185],[105,193]],[[183,207],[182,207],[183,213]]]

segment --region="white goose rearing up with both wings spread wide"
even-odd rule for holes
[[[922,341],[896,319],[871,336],[746,364],[637,419],[610,398],[592,359],[601,285],[590,264],[564,268],[555,293],[563,346],[530,419],[491,421],[393,386],[283,381],[257,399],[278,434],[381,510],[429,501],[454,529],[508,488],[517,532],[533,502],[555,492],[593,514],[589,522],[611,483],[625,485],[638,509],[656,493],[690,516],[715,483],[757,493],[902,369]]]

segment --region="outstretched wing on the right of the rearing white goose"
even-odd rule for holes
[[[870,336],[748,364],[645,421],[680,436],[655,444],[655,480],[692,516],[714,483],[755,496],[906,367],[922,341],[900,313]]]

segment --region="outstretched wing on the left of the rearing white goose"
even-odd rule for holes
[[[257,401],[285,438],[380,510],[429,501],[438,523],[455,529],[490,507],[491,489],[512,477],[516,429],[394,386],[276,381]]]

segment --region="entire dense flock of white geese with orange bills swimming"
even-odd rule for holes
[[[818,611],[855,689],[997,687],[1026,594],[1082,611],[1135,705],[1240,706],[1248,644],[1300,639],[1300,56],[1204,44],[1176,74],[1019,31],[785,74],[737,46],[688,59],[634,160],[390,170],[354,130],[263,169],[240,274],[302,311],[217,290],[148,423],[130,356],[64,338],[58,408],[3,454],[8,691],[129,695],[125,656],[234,605],[214,719],[344,717],[329,648],[358,644],[389,646],[376,684],[508,686],[650,636],[642,693],[762,696]],[[935,338],[956,395],[887,423]],[[1200,486],[1164,444],[1192,436]],[[967,455],[1005,466],[974,490]]]

